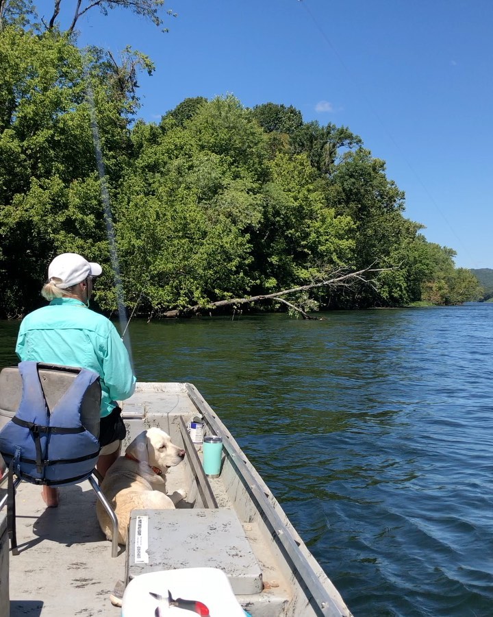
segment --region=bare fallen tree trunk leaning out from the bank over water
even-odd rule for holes
[[[375,278],[365,278],[367,274],[379,274],[383,271],[394,270],[395,268],[372,268],[368,266],[362,270],[356,272],[349,272],[343,274],[342,270],[332,271],[331,278],[324,280],[318,280],[316,282],[309,283],[307,285],[301,285],[300,287],[292,287],[291,289],[283,289],[276,291],[275,293],[263,293],[262,295],[251,295],[248,298],[229,298],[229,300],[218,300],[217,302],[211,302],[207,306],[201,306],[196,304],[195,306],[187,307],[186,309],[173,309],[172,311],[166,311],[160,314],[160,317],[186,317],[187,315],[197,315],[204,311],[212,311],[214,309],[223,309],[227,306],[233,306],[235,309],[242,304],[253,304],[255,302],[273,301],[286,304],[292,311],[300,313],[303,319],[318,319],[318,317],[312,317],[308,315],[306,311],[303,311],[300,306],[288,302],[284,295],[290,295],[293,293],[303,293],[303,291],[309,291],[320,287],[346,287],[347,289],[353,288],[357,283],[363,283],[364,285],[370,285],[373,289],[377,289],[374,284]]]

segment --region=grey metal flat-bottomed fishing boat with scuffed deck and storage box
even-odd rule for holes
[[[223,435],[223,465],[216,479],[205,477],[200,446],[192,444],[186,431],[186,422],[197,412],[204,415],[208,431]],[[208,524],[204,528],[203,520],[190,522],[195,516],[190,512],[184,516],[188,524],[177,532],[175,510],[148,511],[149,565],[140,569],[130,539],[129,548],[121,546],[118,556],[111,556],[88,481],[61,487],[60,505],[53,509],[45,508],[41,487],[21,483],[16,490],[19,554],[9,555],[5,540],[0,551],[0,575],[8,569],[10,577],[10,617],[120,616],[121,609],[110,601],[118,581],[127,584],[134,575],[156,569],[194,567],[224,570],[238,602],[254,617],[351,617],[275,497],[194,387],[138,384],[136,394],[123,404],[123,417],[128,432],[124,447],[150,426],[183,444],[186,458],[168,471],[166,492],[185,488],[188,495],[179,507],[193,508]],[[4,492],[0,487],[0,497]],[[222,536],[230,522],[234,533]],[[194,531],[197,540],[189,542]],[[4,575],[2,590],[5,583]],[[8,616],[2,614],[5,600],[6,594],[0,594],[0,617]]]

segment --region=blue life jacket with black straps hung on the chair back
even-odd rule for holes
[[[76,484],[88,478],[99,456],[99,441],[81,424],[88,387],[99,375],[81,369],[53,409],[48,409],[38,363],[18,365],[23,395],[14,418],[0,431],[0,453],[22,480],[34,484]]]

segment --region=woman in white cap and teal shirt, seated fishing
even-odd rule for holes
[[[21,322],[16,354],[21,361],[77,366],[94,371],[101,383],[101,423],[97,469],[102,476],[120,455],[125,424],[118,400],[134,392],[129,354],[109,319],[89,309],[94,279],[102,272],[76,253],[53,259],[41,294],[49,300]],[[43,486],[47,507],[58,506],[58,490]]]

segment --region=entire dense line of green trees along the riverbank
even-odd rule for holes
[[[140,311],[205,308],[369,266],[385,268],[377,285],[314,287],[294,300],[361,308],[479,295],[470,271],[455,268],[455,252],[427,242],[405,217],[385,162],[349,128],[306,123],[279,104],[244,108],[231,95],[186,99],[159,124],[134,121],[148,58],[81,50],[54,20],[36,26],[5,2],[1,316],[40,304],[47,263],[64,251],[108,265],[97,301],[113,310],[110,222],[127,306]]]

